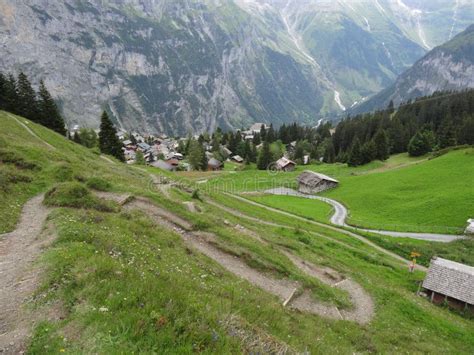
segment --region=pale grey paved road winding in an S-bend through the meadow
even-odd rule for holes
[[[394,231],[385,231],[385,230],[375,230],[375,229],[365,229],[365,228],[356,228],[346,223],[348,211],[347,208],[340,202],[336,200],[317,196],[317,195],[306,195],[301,192],[298,192],[293,189],[281,187],[265,191],[266,193],[273,195],[289,195],[302,198],[308,198],[312,200],[320,200],[326,202],[334,207],[334,214],[332,215],[330,221],[332,224],[340,227],[349,227],[356,230],[361,230],[364,232],[376,233],[381,235],[386,235],[394,238],[412,238],[418,240],[432,241],[432,242],[442,242],[449,243],[454,240],[463,239],[463,235],[453,235],[453,234],[436,234],[436,233],[411,233],[411,232],[394,232]]]

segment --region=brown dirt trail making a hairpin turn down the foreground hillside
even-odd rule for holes
[[[370,296],[363,291],[360,285],[348,279],[346,280],[348,281],[347,286],[339,286],[336,281],[340,281],[342,277],[332,269],[327,267],[318,268],[315,265],[307,263],[299,257],[282,250],[301,271],[311,277],[318,278],[320,281],[330,286],[339,287],[347,291],[354,303],[354,310],[339,311],[335,306],[315,301],[311,298],[309,292],[305,290],[303,290],[301,295],[294,296],[296,291],[301,288],[298,282],[285,279],[275,279],[258,272],[249,267],[240,258],[227,254],[215,247],[213,242],[217,240],[217,237],[214,234],[192,231],[192,225],[188,221],[154,205],[145,198],[138,197],[131,200],[127,198],[127,195],[117,195],[113,193],[100,193],[100,196],[115,201],[126,201],[124,205],[125,209],[138,209],[148,214],[156,223],[180,234],[187,245],[213,259],[229,272],[277,296],[284,305],[289,305],[291,308],[317,314],[326,318],[344,319],[360,324],[368,323],[373,317],[374,308]],[[342,283],[340,284],[342,285]],[[361,310],[361,307],[366,308],[365,310]]]

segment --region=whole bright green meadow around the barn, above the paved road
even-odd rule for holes
[[[460,234],[474,216],[474,148],[455,150],[439,157],[411,158],[407,154],[386,162],[351,168],[345,164],[298,166],[294,172],[275,173],[241,166],[242,171],[190,172],[179,176],[197,182],[206,191],[263,192],[276,187],[296,188],[304,170],[332,176],[338,188],[322,195],[349,209],[355,226],[410,232]],[[307,218],[328,222],[320,201],[245,194],[245,197]]]

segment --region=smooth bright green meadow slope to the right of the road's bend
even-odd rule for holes
[[[349,208],[351,224],[459,233],[474,216],[473,176],[471,148],[398,170],[341,177],[340,187],[325,195]]]

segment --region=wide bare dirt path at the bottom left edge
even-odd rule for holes
[[[23,306],[38,285],[33,262],[54,238],[41,234],[49,213],[42,201],[43,195],[29,200],[17,228],[0,236],[0,353],[22,351],[32,326]]]

